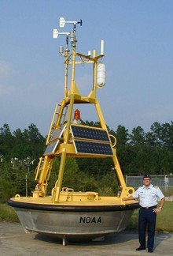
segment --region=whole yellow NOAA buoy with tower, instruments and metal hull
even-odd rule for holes
[[[71,32],[59,32],[53,29],[53,38],[66,37],[66,46],[60,47],[64,56],[64,98],[53,112],[50,130],[46,140],[46,150],[40,157],[35,173],[37,185],[31,197],[17,194],[10,198],[8,204],[13,206],[27,232],[46,235],[57,235],[63,239],[94,239],[109,233],[120,232],[127,227],[137,201],[123,201],[129,197],[133,187],[128,187],[123,179],[119,161],[116,156],[116,138],[109,135],[101,106],[96,97],[98,88],[105,85],[105,64],[99,59],[104,57],[104,41],[101,40],[101,53],[83,55],[76,52],[76,27],[82,21],[65,21],[60,18],[60,28],[72,24]],[[69,41],[72,50],[69,49]],[[78,65],[93,66],[93,85],[88,95],[81,95],[75,83],[75,69]],[[71,81],[68,84],[68,67],[71,66]],[[80,111],[75,105],[87,108],[93,104],[101,127],[84,126],[80,122]],[[74,113],[74,117],[72,116]],[[112,144],[113,137],[113,144]],[[60,159],[58,179],[47,194],[53,160]],[[101,196],[98,191],[75,191],[62,187],[64,164],[67,157],[90,157],[112,160],[112,171],[115,171],[120,191],[117,196]],[[116,183],[115,183],[116,186]]]

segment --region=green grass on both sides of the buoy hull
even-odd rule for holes
[[[17,213],[14,209],[6,204],[0,204],[0,221],[19,222]],[[166,201],[164,208],[156,217],[157,232],[173,232],[173,201]],[[131,220],[127,225],[127,230],[138,231],[138,210],[134,211]]]

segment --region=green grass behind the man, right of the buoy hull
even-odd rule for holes
[[[173,201],[165,201],[164,208],[156,216],[157,232],[173,232]],[[134,211],[127,230],[138,231],[138,210]]]

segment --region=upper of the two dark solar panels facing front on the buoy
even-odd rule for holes
[[[109,134],[106,130],[101,130],[96,127],[86,127],[86,126],[71,126],[73,137],[78,137],[81,139],[89,139],[94,141],[108,141]]]

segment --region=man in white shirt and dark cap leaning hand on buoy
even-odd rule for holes
[[[154,235],[156,228],[156,213],[160,213],[164,206],[164,194],[158,186],[151,184],[149,175],[143,176],[143,186],[132,194],[129,198],[123,198],[124,201],[139,199],[141,206],[138,214],[138,239],[140,247],[136,250],[145,250],[145,232],[148,230],[147,247],[149,253],[153,253]],[[160,207],[157,208],[157,201],[160,199]]]

